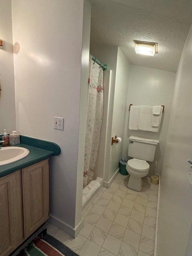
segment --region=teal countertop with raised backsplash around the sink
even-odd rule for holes
[[[32,164],[36,164],[53,155],[59,155],[61,152],[61,149],[57,144],[46,140],[20,135],[20,141],[21,144],[13,146],[29,149],[29,155],[19,161],[0,166],[0,177],[28,167]]]

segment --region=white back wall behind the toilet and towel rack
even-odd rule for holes
[[[125,119],[125,135],[123,141],[123,157],[128,156],[128,138],[131,135],[157,139],[160,141],[156,149],[155,161],[158,161],[157,173],[161,174],[164,156],[167,129],[170,118],[170,110],[174,91],[175,73],[154,68],[131,65],[127,112]],[[134,131],[128,129],[129,105],[165,105],[162,114],[161,127],[158,132]],[[154,175],[155,161],[149,162],[150,170],[148,176]]]

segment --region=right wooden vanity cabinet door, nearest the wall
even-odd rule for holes
[[[22,169],[25,239],[49,218],[48,159]]]

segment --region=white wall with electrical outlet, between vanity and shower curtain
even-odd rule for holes
[[[49,166],[50,214],[75,227],[83,0],[14,0],[12,14],[17,130],[61,147]],[[64,117],[64,131],[53,116]]]

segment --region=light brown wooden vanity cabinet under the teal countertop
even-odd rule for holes
[[[0,256],[8,256],[48,218],[48,159],[0,178]]]

